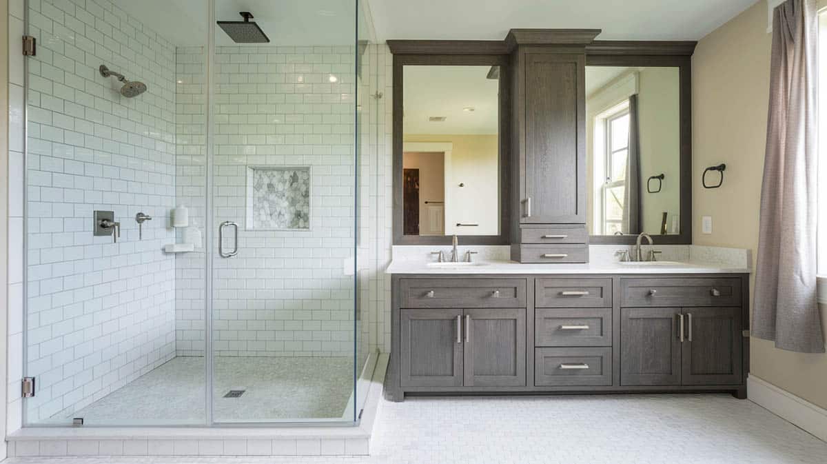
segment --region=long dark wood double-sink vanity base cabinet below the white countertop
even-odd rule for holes
[[[386,396],[730,392],[748,275],[394,275]]]

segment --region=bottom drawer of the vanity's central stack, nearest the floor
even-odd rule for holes
[[[536,348],[534,385],[612,385],[612,349]]]

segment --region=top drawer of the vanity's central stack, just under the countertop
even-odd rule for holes
[[[537,279],[538,308],[611,308],[611,279]]]

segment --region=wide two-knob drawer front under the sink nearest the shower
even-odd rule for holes
[[[525,308],[524,279],[402,279],[402,308]]]

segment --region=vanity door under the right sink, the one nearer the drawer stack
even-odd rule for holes
[[[620,385],[681,385],[678,308],[620,311]]]

